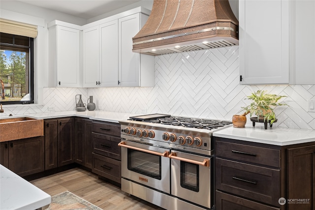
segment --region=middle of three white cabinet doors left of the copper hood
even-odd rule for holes
[[[118,86],[118,20],[99,26],[100,86]]]

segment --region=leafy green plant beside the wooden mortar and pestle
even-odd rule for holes
[[[252,115],[257,116],[257,121],[263,120],[265,122],[267,120],[271,125],[276,120],[274,108],[276,106],[286,105],[279,102],[283,97],[286,96],[265,93],[265,90],[257,90],[247,96],[246,99],[252,100],[252,103],[246,107],[242,107],[243,111],[245,111],[242,116],[250,113],[251,117]]]

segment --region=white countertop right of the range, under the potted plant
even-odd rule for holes
[[[265,130],[263,123],[255,127],[246,124],[245,128],[228,127],[213,133],[215,137],[286,146],[315,142],[315,130],[293,129],[273,126]]]

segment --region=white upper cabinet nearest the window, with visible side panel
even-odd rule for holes
[[[80,30],[77,27],[60,21],[48,24],[49,87],[80,87]]]

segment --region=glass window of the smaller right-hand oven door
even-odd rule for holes
[[[181,161],[181,186],[199,192],[199,165]]]

